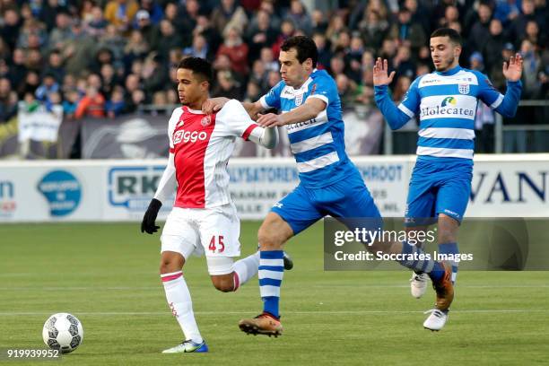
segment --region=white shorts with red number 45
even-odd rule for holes
[[[240,219],[234,205],[213,208],[174,207],[161,235],[161,252],[173,251],[187,261],[206,256],[210,274],[230,274],[232,258],[240,257]]]

